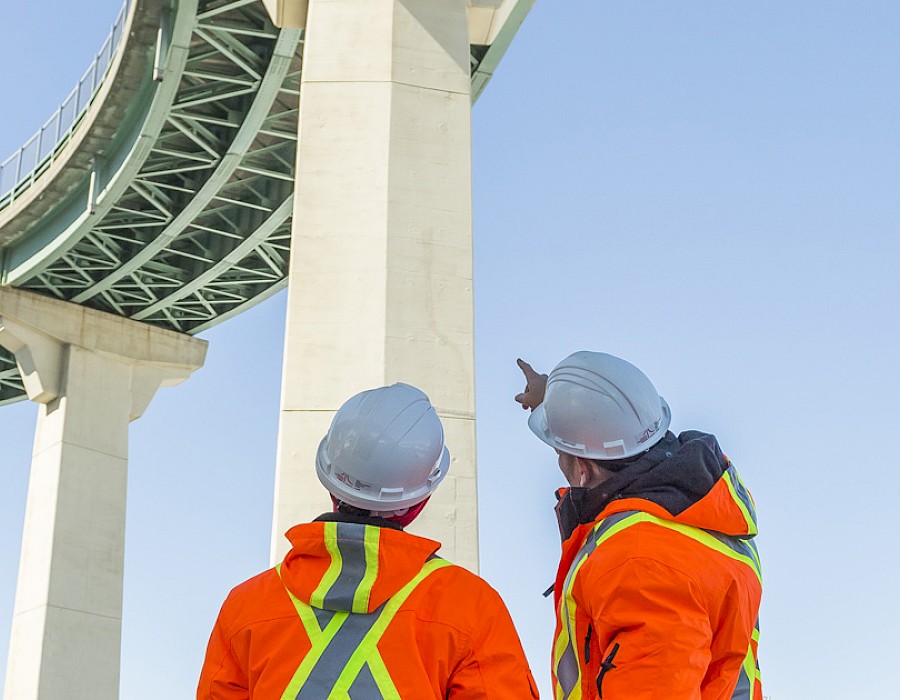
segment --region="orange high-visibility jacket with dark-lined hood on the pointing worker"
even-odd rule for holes
[[[762,700],[756,513],[715,438],[669,433],[589,491],[557,507],[555,700]]]

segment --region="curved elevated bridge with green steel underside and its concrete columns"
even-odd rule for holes
[[[471,105],[532,2],[127,0],[0,164],[0,403],[39,404],[6,698],[118,696],[129,424],[289,276],[272,560],[334,411],[405,381],[453,455],[416,532],[477,570]]]

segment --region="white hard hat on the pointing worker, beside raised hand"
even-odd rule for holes
[[[560,452],[609,460],[652,447],[671,420],[669,405],[637,367],[582,350],[550,372],[544,402],[531,413],[528,427]]]

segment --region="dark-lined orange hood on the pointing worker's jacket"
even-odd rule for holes
[[[757,533],[756,511],[737,470],[714,435],[665,437],[592,489],[569,488],[556,507],[560,534],[626,510],[641,510],[734,537]]]

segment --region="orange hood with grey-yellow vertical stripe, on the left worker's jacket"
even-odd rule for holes
[[[329,513],[287,531],[288,590],[313,608],[370,613],[409,583],[440,543],[381,518]]]

